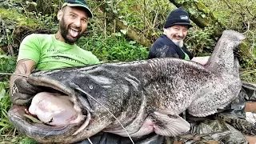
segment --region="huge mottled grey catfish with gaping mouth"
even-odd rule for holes
[[[38,142],[78,142],[102,130],[125,137],[126,131],[131,137],[186,133],[190,124],[178,114],[188,110],[205,117],[238,97],[241,82],[234,50],[242,39],[242,34],[225,30],[206,66],[155,58],[35,72],[28,82],[66,94],[74,108],[72,120],[64,126],[30,122],[22,116],[24,106],[14,105],[10,121]],[[58,114],[53,122],[55,118]]]

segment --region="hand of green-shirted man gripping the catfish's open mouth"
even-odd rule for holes
[[[29,105],[35,94],[42,90],[26,82],[26,78],[17,78],[10,86],[10,101],[16,105]]]

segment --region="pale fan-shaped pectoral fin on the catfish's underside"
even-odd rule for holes
[[[154,132],[164,136],[177,136],[190,130],[190,123],[179,115],[154,112]]]

